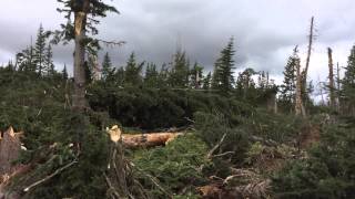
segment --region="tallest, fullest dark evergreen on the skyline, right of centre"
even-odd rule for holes
[[[229,44],[221,51],[221,56],[214,64],[212,86],[215,90],[220,90],[223,94],[229,94],[233,88],[233,70],[235,69],[233,60],[234,53],[232,38]]]

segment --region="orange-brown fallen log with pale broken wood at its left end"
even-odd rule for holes
[[[116,143],[121,139],[125,148],[164,146],[183,135],[183,133],[122,134],[116,125],[106,129],[106,132],[110,134],[112,142]]]

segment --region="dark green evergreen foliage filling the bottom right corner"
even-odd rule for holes
[[[308,158],[293,160],[273,179],[278,198],[354,198],[355,128],[331,126]]]

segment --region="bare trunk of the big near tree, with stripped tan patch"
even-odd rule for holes
[[[74,51],[74,95],[73,109],[83,111],[87,106],[85,101],[85,39],[87,13],[89,9],[89,0],[84,0],[82,11],[74,13],[74,34],[75,34],[75,51]]]

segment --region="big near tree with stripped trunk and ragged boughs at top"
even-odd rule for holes
[[[98,34],[95,25],[98,17],[104,18],[108,12],[116,12],[114,7],[104,3],[102,0],[58,0],[63,3],[59,12],[65,13],[67,24],[62,24],[62,31],[55,32],[55,42],[74,40],[74,96],[73,109],[82,112],[85,109],[85,52],[94,52],[100,49],[99,40],[88,36],[88,33]],[[72,21],[72,15],[74,20]]]

